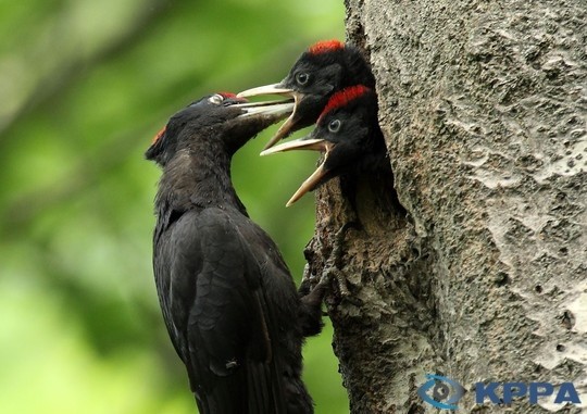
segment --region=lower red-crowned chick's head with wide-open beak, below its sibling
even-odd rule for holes
[[[292,150],[320,151],[324,156],[287,202],[288,206],[328,179],[371,163],[372,155],[385,154],[375,92],[363,85],[336,92],[310,135],[264,150],[261,155]]]

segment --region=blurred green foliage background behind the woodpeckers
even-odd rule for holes
[[[193,413],[151,271],[158,168],[143,151],[212,91],[282,79],[339,0],[0,0],[0,412]],[[313,200],[285,202],[313,154],[236,158],[249,213],[294,275]],[[346,413],[332,329],[305,347],[316,413]]]

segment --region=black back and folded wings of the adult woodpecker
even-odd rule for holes
[[[236,211],[189,211],[155,240],[163,315],[202,413],[286,412],[275,354],[283,304],[266,291],[271,259],[259,258],[250,226]]]

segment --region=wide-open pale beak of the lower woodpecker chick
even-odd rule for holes
[[[270,148],[261,152],[261,155],[268,155],[276,152],[285,152],[285,151],[292,151],[292,150],[310,150],[310,151],[320,151],[324,153],[324,158],[322,162],[320,163],[316,171],[312,173],[310,177],[305,179],[305,181],[302,183],[300,188],[291,196],[289,201],[287,202],[286,206],[290,206],[296,201],[302,198],[303,195],[305,195],[308,191],[312,191],[316,186],[322,183],[328,171],[324,167],[324,164],[326,160],[328,159],[328,155],[330,154],[333,148],[335,147],[334,143],[326,141],[325,139],[316,139],[316,138],[309,138],[304,137],[301,139],[296,139],[294,141],[284,142],[279,146]]]

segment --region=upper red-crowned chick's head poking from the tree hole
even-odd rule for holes
[[[353,85],[375,88],[371,66],[355,47],[326,40],[304,51],[282,81],[248,89],[238,96],[282,95],[294,98],[294,112],[267,142],[267,149],[289,134],[314,124],[328,99]]]

